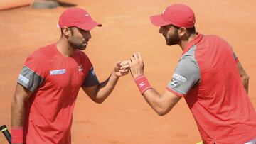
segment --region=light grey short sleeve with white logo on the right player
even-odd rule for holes
[[[171,82],[166,89],[178,96],[186,96],[188,91],[200,81],[200,70],[196,60],[191,57],[183,57],[178,62]]]

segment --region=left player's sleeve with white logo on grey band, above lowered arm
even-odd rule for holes
[[[42,55],[34,52],[29,56],[23,65],[21,73],[18,75],[18,84],[26,87],[31,92],[35,92],[36,89],[44,82],[46,67],[46,60],[43,60]]]

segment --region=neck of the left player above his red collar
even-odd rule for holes
[[[70,46],[68,40],[60,38],[56,43],[58,51],[65,57],[70,57],[74,54],[75,49]]]

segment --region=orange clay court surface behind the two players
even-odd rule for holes
[[[166,46],[151,25],[149,16],[161,13],[176,2],[188,4],[196,13],[196,29],[228,40],[250,75],[249,96],[256,106],[256,1],[255,0],[66,0],[87,9],[102,28],[91,31],[85,53],[97,77],[105,80],[117,60],[141,52],[145,74],[160,93],[172,77],[181,55],[178,46]],[[26,57],[39,47],[55,43],[60,37],[58,17],[67,7],[31,9],[29,6],[0,11],[0,125],[11,129],[11,97]],[[232,82],[232,79],[230,79]],[[114,92],[103,104],[95,104],[80,92],[73,113],[74,144],[166,144],[196,143],[201,140],[182,99],[166,116],[158,116],[139,94],[130,74],[119,79]],[[0,135],[0,143],[7,141]]]

